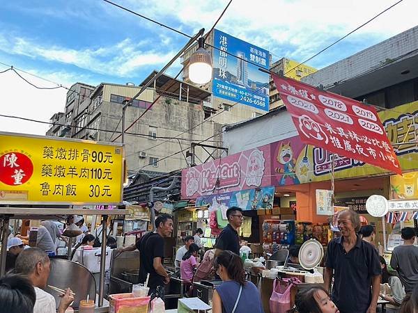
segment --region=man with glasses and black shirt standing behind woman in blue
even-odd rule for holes
[[[226,218],[228,225],[224,227],[216,241],[215,256],[222,250],[229,250],[236,255],[240,255],[240,236],[238,236],[238,228],[242,224],[244,216],[242,209],[239,207],[230,207],[226,210]]]

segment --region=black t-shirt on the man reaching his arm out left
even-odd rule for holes
[[[164,284],[164,276],[158,275],[154,269],[154,258],[164,259],[164,239],[156,232],[148,232],[136,243],[139,250],[139,282],[144,283],[149,273],[148,287],[155,289]]]

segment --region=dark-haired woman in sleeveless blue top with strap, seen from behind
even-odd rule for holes
[[[245,280],[238,255],[229,250],[220,252],[215,259],[215,270],[223,282],[213,291],[212,313],[264,313],[260,293],[252,282]]]

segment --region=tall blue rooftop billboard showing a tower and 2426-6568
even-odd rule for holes
[[[269,74],[258,67],[269,69],[269,52],[217,29],[213,40],[213,95],[268,111]]]

